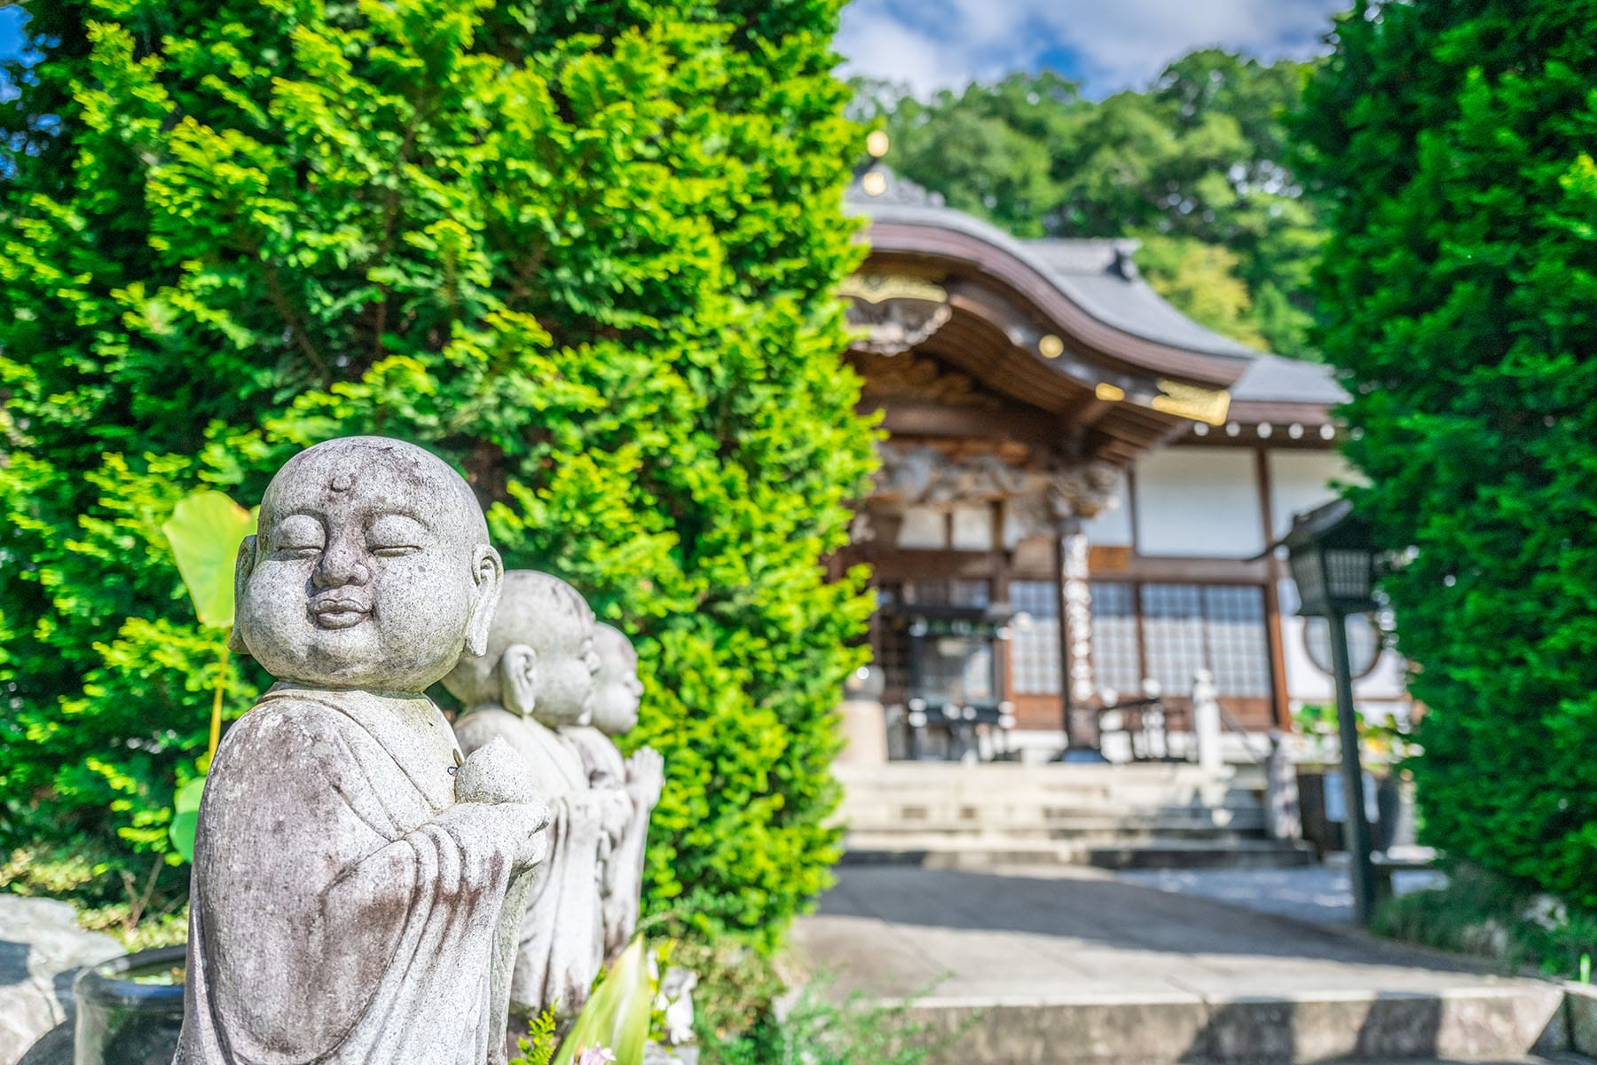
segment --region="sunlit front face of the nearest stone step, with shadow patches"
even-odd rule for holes
[[[933,996],[910,1017],[960,1065],[1306,1065],[1571,1060],[1554,985],[1067,1001]],[[1579,1059],[1575,1059],[1579,1060]]]

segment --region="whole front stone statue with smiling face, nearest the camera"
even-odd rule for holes
[[[278,683],[211,765],[177,1065],[505,1060],[548,810],[422,695],[485,648],[500,584],[471,490],[418,447],[329,441],[271,479],[233,647]]]

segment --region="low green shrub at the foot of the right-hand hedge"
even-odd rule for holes
[[[1383,902],[1373,929],[1560,979],[1578,979],[1581,960],[1597,952],[1597,912],[1571,910],[1516,880],[1468,864],[1448,869],[1440,888]]]

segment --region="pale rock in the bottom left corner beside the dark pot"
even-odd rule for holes
[[[81,966],[120,953],[110,936],[78,928],[65,902],[0,894],[0,1065],[16,1065],[72,1017],[72,977]]]

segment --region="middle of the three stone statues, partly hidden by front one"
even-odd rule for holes
[[[548,573],[514,570],[485,651],[462,658],[444,687],[466,704],[455,736],[468,750],[506,742],[553,810],[549,859],[538,869],[511,980],[516,1014],[572,1017],[604,961],[600,862],[626,822],[620,790],[594,790],[581,755],[557,730],[588,720],[594,698],[594,616]]]

